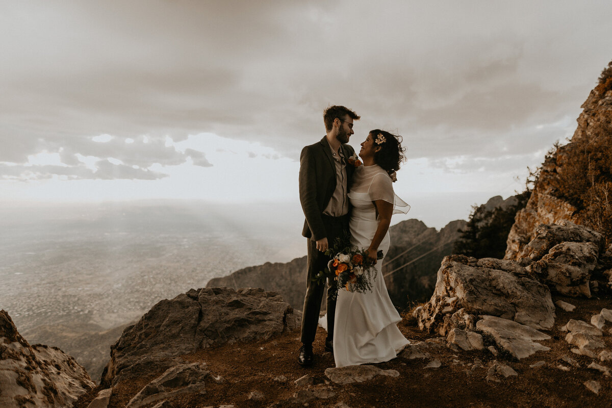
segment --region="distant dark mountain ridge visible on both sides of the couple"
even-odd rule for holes
[[[391,247],[383,265],[389,296],[395,305],[428,299],[436,283],[436,271],[449,255],[466,221],[451,221],[439,232],[422,221],[406,220],[389,228]],[[305,245],[305,243],[304,243]],[[395,271],[395,272],[394,272]],[[211,279],[206,287],[263,287],[278,292],[286,302],[302,310],[306,288],[306,257],[286,263],[270,263],[237,270],[228,276]],[[325,302],[323,302],[323,310]]]

